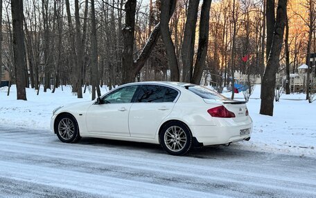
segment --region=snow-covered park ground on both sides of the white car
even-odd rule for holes
[[[0,126],[17,126],[49,131],[49,122],[54,108],[75,101],[89,101],[89,91],[83,99],[71,94],[70,87],[58,88],[55,93],[43,92],[36,95],[33,89],[27,89],[28,101],[16,100],[16,88],[12,86],[10,96],[8,88],[0,88]],[[101,89],[102,94],[108,88]],[[231,92],[224,94],[230,97]],[[243,94],[236,94],[243,100]],[[303,94],[281,96],[274,103],[274,116],[259,115],[260,86],[247,103],[249,115],[254,120],[254,132],[250,141],[235,143],[236,148],[264,152],[278,152],[290,155],[316,156],[316,101],[308,103]]]

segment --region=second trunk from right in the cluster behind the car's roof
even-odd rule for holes
[[[198,19],[199,2],[196,0],[188,1],[188,14],[186,15],[186,26],[182,44],[182,81],[190,83],[193,74],[193,55],[195,44],[195,26]]]

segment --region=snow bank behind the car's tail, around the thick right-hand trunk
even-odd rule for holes
[[[308,103],[305,94],[283,93],[274,102],[273,117],[260,115],[260,90],[256,86],[247,103],[254,121],[252,139],[240,144],[249,150],[316,156],[316,102]],[[230,98],[231,92],[223,95]],[[243,93],[235,94],[235,99],[244,100]]]

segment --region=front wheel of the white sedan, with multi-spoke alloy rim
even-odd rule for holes
[[[69,114],[62,115],[55,120],[55,133],[64,143],[76,143],[81,137],[76,119]]]

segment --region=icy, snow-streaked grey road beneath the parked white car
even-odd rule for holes
[[[316,158],[84,138],[0,125],[0,197],[316,197]]]

